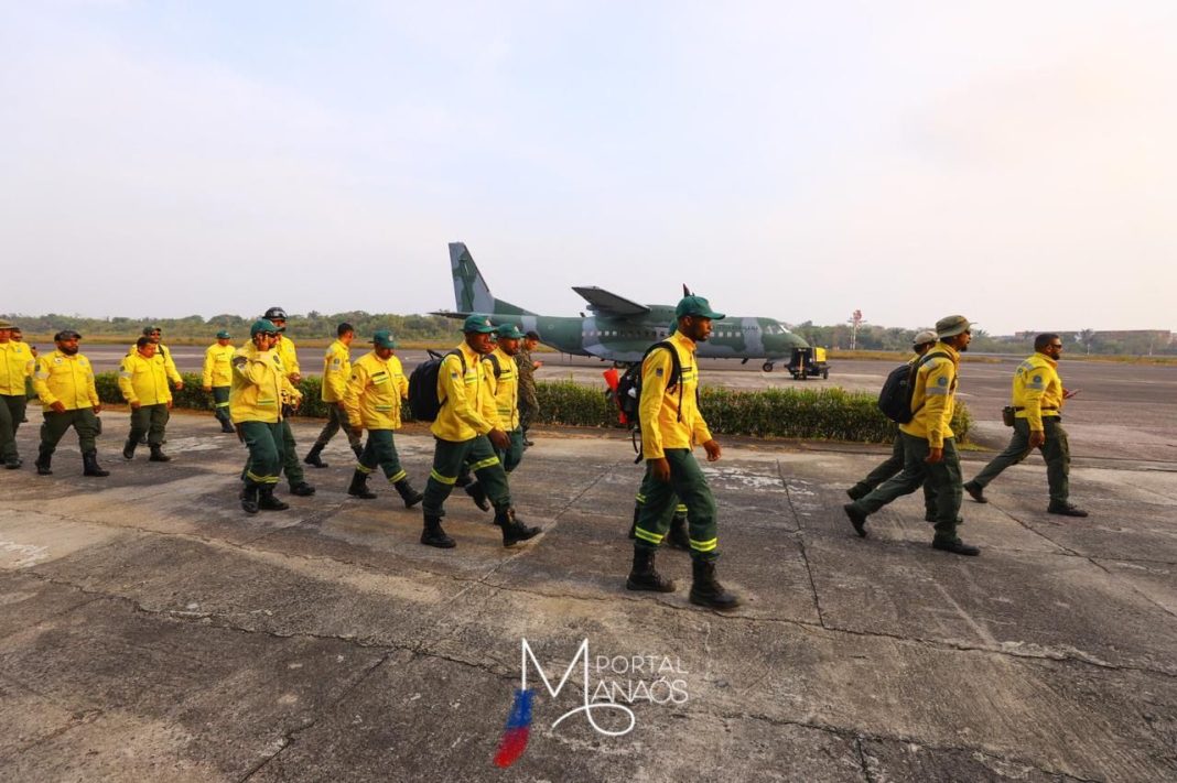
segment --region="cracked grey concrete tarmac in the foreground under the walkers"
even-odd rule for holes
[[[625,590],[620,434],[537,433],[512,484],[545,533],[504,549],[459,493],[444,551],[384,482],[346,495],[343,436],[313,497],[247,516],[245,449],[210,416],[174,415],[160,464],[124,462],[127,416],[104,413],[112,475],[85,478],[72,434],[35,475],[29,414],[26,467],[0,470],[6,782],[1177,779],[1171,464],[1077,460],[1073,520],[1032,459],[965,501],[984,551],[962,558],[916,495],[853,535],[844,489],[885,449],[727,442],[706,467],[744,597],[724,615],[687,602],[680,551],[658,555],[674,593]],[[295,421],[302,449],[319,426]],[[421,487],[432,440],[397,442]],[[558,696],[536,663],[567,672]],[[530,742],[500,770],[525,668]],[[601,692],[631,730],[585,709]]]

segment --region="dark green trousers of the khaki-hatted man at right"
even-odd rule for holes
[[[873,514],[891,501],[910,495],[922,483],[931,484],[936,496],[936,541],[957,541],[957,518],[960,515],[960,455],[956,450],[956,439],[944,439],[944,459],[927,464],[927,439],[899,433],[903,439],[903,473],[884,481],[870,495],[852,506],[863,514]]]

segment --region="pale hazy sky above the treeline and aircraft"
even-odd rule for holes
[[[1177,2],[0,0],[0,312],[1175,328]]]

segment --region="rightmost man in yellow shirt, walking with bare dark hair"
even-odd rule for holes
[[[1050,489],[1048,514],[1086,516],[1088,513],[1069,500],[1071,486],[1071,447],[1063,429],[1063,404],[1075,392],[1063,387],[1058,360],[1063,340],[1046,333],[1035,337],[1035,354],[1018,364],[1013,373],[1013,437],[964,490],[978,503],[988,503],[985,487],[1010,466],[1022,462],[1035,449],[1046,461],[1046,486]]]

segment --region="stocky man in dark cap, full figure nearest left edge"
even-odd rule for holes
[[[98,414],[102,403],[94,386],[94,367],[78,353],[81,335],[62,329],[53,335],[56,350],[40,356],[33,375],[33,388],[41,399],[45,423],[41,424],[41,447],[36,455],[36,474],[53,475],[53,451],[71,427],[78,433],[84,476],[108,476],[98,464],[98,443],[101,431]]]

